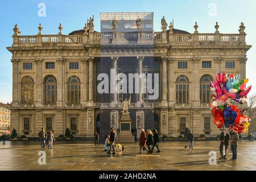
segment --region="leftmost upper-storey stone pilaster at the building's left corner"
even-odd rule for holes
[[[18,59],[12,59],[11,63],[13,63],[13,102],[11,102],[11,105],[16,107],[18,106],[18,75],[19,75],[19,60]]]

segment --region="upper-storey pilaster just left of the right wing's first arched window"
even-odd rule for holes
[[[174,77],[174,59],[170,58],[168,63],[168,89],[169,89],[169,101],[170,107],[175,107],[175,77]]]

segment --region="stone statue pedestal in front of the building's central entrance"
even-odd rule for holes
[[[119,129],[116,143],[134,143],[134,136],[131,134],[131,118],[129,113],[121,115]]]

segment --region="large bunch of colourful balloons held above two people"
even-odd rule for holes
[[[212,111],[214,125],[219,129],[234,129],[238,133],[247,131],[250,118],[243,115],[245,110],[240,110],[237,105],[246,101],[246,96],[251,86],[246,88],[248,79],[240,80],[240,75],[227,76],[218,73],[216,80],[210,84]]]

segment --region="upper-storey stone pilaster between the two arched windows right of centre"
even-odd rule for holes
[[[192,57],[192,101],[193,107],[200,107],[200,58]],[[190,89],[190,88],[189,88]]]

